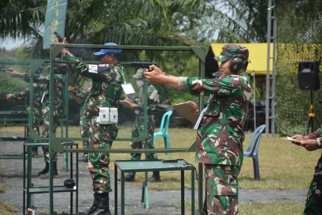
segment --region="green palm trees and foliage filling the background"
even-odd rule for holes
[[[18,60],[49,58],[48,50],[42,49],[46,3],[46,0],[0,2],[4,11],[0,14],[0,38],[24,39],[27,44]],[[264,42],[266,5],[266,0],[69,0],[64,35],[73,44],[112,41],[121,45],[209,47],[213,40]],[[227,11],[231,12],[228,16]],[[72,53],[85,60],[99,61],[99,57],[93,56],[94,51],[97,50],[79,49]],[[123,58],[155,61],[176,76],[199,76],[198,59],[189,52],[131,51],[124,52]],[[132,81],[130,75],[135,71],[126,72],[127,81]],[[78,73],[70,71],[69,85],[80,85],[83,80]],[[5,82],[11,81],[5,79]],[[157,88],[172,102],[197,99],[166,86]]]

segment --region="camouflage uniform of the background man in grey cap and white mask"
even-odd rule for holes
[[[137,138],[144,132],[144,86],[140,88],[139,92],[139,100],[135,102],[139,107],[136,109],[136,118],[135,122],[132,125],[132,138]],[[156,111],[156,105],[159,103],[159,95],[156,91],[156,88],[152,85],[148,85],[148,105],[147,105],[147,145],[149,148],[153,149],[153,134],[154,128],[156,126],[156,122],[154,121],[154,111]],[[156,93],[154,92],[156,91]],[[152,94],[153,93],[153,94]],[[151,97],[152,95],[152,97]],[[142,148],[145,141],[140,142],[132,142],[130,143],[131,149]],[[141,154],[140,153],[131,153],[131,160],[140,160]],[[155,153],[148,154],[148,159],[158,159]]]

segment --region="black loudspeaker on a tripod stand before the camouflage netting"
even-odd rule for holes
[[[298,85],[301,90],[320,89],[319,61],[298,62]]]

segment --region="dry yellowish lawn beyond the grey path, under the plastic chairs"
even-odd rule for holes
[[[5,131],[23,131],[23,127],[3,127],[0,132]],[[57,129],[57,136],[60,136],[60,127]],[[158,128],[156,129],[158,131]],[[68,133],[70,137],[80,137],[78,126],[69,126]],[[131,128],[121,126],[118,137],[130,137]],[[196,130],[190,128],[169,128],[171,148],[188,148],[194,142]],[[246,139],[243,147],[246,150],[252,133],[246,133]],[[292,134],[290,134],[292,135]],[[156,148],[164,148],[163,138],[156,138]],[[129,142],[115,141],[113,149],[128,149]],[[280,139],[279,136],[273,138],[265,137],[263,134],[259,145],[259,164],[260,179],[254,180],[254,171],[252,159],[244,158],[242,171],[238,177],[239,185],[242,189],[269,189],[269,190],[297,190],[308,189],[312,180],[314,168],[318,158],[321,156],[321,150],[308,152],[303,147],[293,145],[290,141]],[[172,153],[165,155],[158,154],[159,159],[181,158],[190,164],[194,164],[198,169],[198,164],[194,162],[195,153]],[[114,169],[114,161],[130,159],[130,154],[111,154],[110,168]],[[144,158],[144,155],[142,155]],[[149,173],[149,176],[152,173]],[[180,172],[169,171],[161,172],[161,183],[149,183],[149,189],[153,190],[180,190]],[[142,186],[144,173],[137,173],[133,185]],[[185,186],[190,189],[191,175],[185,174]],[[197,181],[195,181],[197,189]]]

